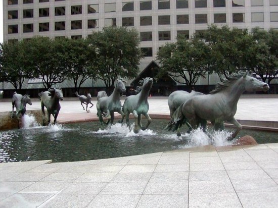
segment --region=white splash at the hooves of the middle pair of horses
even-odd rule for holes
[[[131,137],[131,136],[142,136],[142,135],[157,135],[157,133],[153,132],[150,129],[146,129],[145,131],[139,130],[137,134],[133,132],[134,129],[134,123],[131,125],[130,129],[126,124],[113,124],[108,126],[106,129],[102,130],[99,129],[98,131],[94,132],[97,134],[119,134],[122,135],[123,137]]]

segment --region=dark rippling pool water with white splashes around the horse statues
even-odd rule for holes
[[[144,120],[143,120],[144,121]],[[205,134],[200,129],[177,137],[175,132],[163,130],[168,120],[154,119],[150,129],[133,133],[125,124],[100,129],[99,122],[86,122],[48,127],[26,127],[0,131],[0,162],[53,160],[53,162],[84,161],[124,157],[213,144],[230,145],[225,138],[231,129]],[[186,132],[184,127],[183,132]],[[277,133],[242,130],[258,143],[277,141]],[[276,140],[273,140],[276,139]]]

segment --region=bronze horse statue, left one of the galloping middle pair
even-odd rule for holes
[[[101,122],[101,125],[103,123],[111,124],[114,123],[114,112],[118,112],[122,116],[124,116],[124,113],[122,112],[122,103],[120,100],[121,93],[125,92],[125,84],[124,80],[117,79],[116,87],[114,88],[112,94],[110,96],[104,96],[99,98],[97,102],[97,116],[99,117],[99,120]],[[106,113],[107,115],[107,122],[104,122],[103,115]]]

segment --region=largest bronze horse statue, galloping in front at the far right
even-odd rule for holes
[[[268,89],[268,84],[247,76],[247,72],[233,73],[216,84],[216,88],[210,94],[193,96],[185,101],[173,113],[166,128],[178,129],[186,120],[193,129],[200,124],[201,129],[206,131],[207,120],[209,120],[214,130],[223,130],[225,121],[236,126],[236,131],[227,138],[233,140],[242,129],[241,124],[234,118],[241,94],[245,91],[267,91]]]

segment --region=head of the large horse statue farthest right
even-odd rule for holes
[[[242,77],[244,81],[244,88],[248,92],[255,92],[255,91],[267,91],[269,89],[268,84],[259,81],[258,79],[254,77],[247,76],[247,73],[245,73]]]

